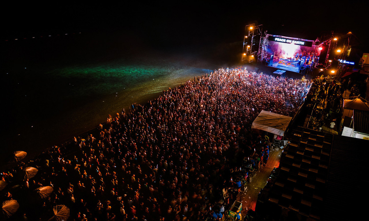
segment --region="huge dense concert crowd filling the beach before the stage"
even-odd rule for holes
[[[310,85],[219,69],[132,104],[129,113],[109,116],[96,134],[3,172],[8,186],[2,200],[20,204],[10,220],[48,219],[61,204],[76,221],[220,219],[210,207],[228,188],[240,191],[243,166],[268,160],[268,138],[251,131],[256,116],[262,110],[294,116]],[[38,168],[37,175],[18,178],[25,166]],[[35,197],[40,186],[54,191]]]

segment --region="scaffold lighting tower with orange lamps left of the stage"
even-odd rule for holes
[[[250,63],[255,62],[256,60],[259,61],[259,55],[261,53],[260,46],[262,43],[262,25],[246,25],[242,61],[248,60]],[[254,56],[252,57],[252,55]]]

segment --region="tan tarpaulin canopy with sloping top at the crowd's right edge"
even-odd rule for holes
[[[284,131],[287,129],[288,124],[292,120],[292,117],[272,113],[268,111],[261,111],[252,122],[251,128],[268,131],[279,136],[284,135]]]

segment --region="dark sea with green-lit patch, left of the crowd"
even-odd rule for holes
[[[134,103],[219,67],[236,65],[242,42],[166,46],[124,33],[68,33],[1,43],[1,166],[24,161],[104,123]]]

